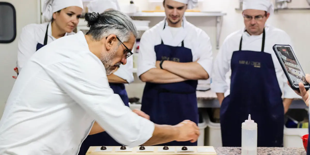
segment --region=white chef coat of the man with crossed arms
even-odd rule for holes
[[[162,20],[143,33],[139,44],[138,76],[152,68],[156,68],[154,46],[161,44],[162,41],[165,45],[181,46],[182,40],[184,40],[184,47],[192,50],[193,62],[199,59],[197,63],[210,76],[213,60],[210,37],[205,31],[189,23],[185,18],[183,18],[183,21],[184,28],[171,28],[166,20]],[[178,30],[177,33],[176,30]]]

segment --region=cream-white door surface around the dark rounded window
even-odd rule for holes
[[[11,3],[16,11],[16,38],[11,43],[0,43],[0,117],[2,116],[5,102],[11,92],[16,76],[14,68],[16,67],[17,59],[17,42],[20,37],[21,29],[31,23],[40,23],[40,0],[6,0],[0,2]],[[7,17],[6,12],[1,13],[1,16]],[[1,21],[0,21],[1,22]],[[3,25],[5,23],[2,22]],[[1,31],[0,31],[1,32]]]

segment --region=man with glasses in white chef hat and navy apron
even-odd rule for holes
[[[216,56],[211,90],[221,105],[225,147],[241,147],[241,123],[249,114],[258,124],[257,146],[282,147],[284,113],[298,96],[272,50],[274,44],[293,43],[286,32],[265,24],[272,13],[269,0],[243,1],[245,28],[228,35]]]

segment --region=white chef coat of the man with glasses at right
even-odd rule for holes
[[[277,80],[281,91],[283,92],[283,97],[288,99],[300,98],[287,84],[287,78],[281,68],[279,60],[275,55],[272,47],[274,44],[291,45],[293,50],[294,46],[290,39],[290,36],[281,29],[277,29],[270,25],[265,27],[265,48],[264,52],[270,53],[272,56],[272,61],[275,66]],[[245,32],[245,28],[238,30],[234,33],[228,35],[225,38],[222,47],[217,54],[212,70],[211,79],[211,90],[216,93],[224,93],[226,97],[230,93],[230,75],[231,75],[231,58],[234,51],[239,50],[240,40],[242,36],[242,48],[241,50],[248,51],[261,51],[262,49],[262,39],[263,34],[260,35],[250,35]],[[255,78],[255,77],[253,77]]]

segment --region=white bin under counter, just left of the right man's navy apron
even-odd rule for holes
[[[210,121],[209,115],[203,116],[206,120],[207,127],[205,133],[205,145],[213,147],[222,147],[222,134],[220,123],[214,123]]]

